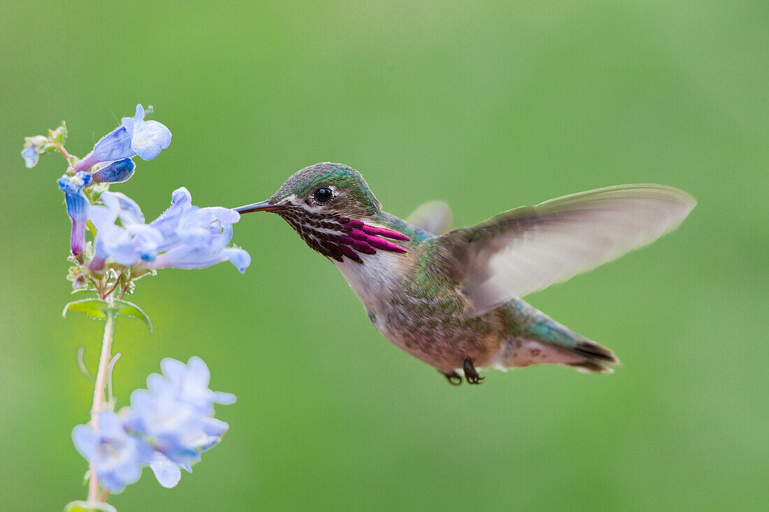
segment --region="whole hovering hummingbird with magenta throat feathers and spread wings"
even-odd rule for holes
[[[385,338],[458,385],[481,384],[486,368],[532,364],[611,373],[611,350],[521,297],[651,243],[696,203],[664,185],[618,185],[446,231],[444,204],[403,221],[382,210],[358,171],[323,162],[235,211],[281,216],[341,271]]]

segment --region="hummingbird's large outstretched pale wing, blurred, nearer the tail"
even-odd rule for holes
[[[663,185],[618,185],[505,211],[439,238],[475,314],[649,244],[697,201]]]

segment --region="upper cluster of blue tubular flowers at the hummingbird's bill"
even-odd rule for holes
[[[99,196],[103,205],[91,204],[85,188],[128,180],[136,167],[131,158],[138,155],[151,160],[171,144],[171,131],[165,125],[144,118],[145,109],[136,105],[133,118],[122,118],[121,126],[105,135],[93,151],[58,179],[72,219],[72,254],[77,256],[85,250],[85,231],[90,219],[98,230],[95,254],[88,265],[91,271],[103,271],[109,258],[125,266],[152,270],[204,268],[231,261],[239,271],[245,271],[251,263],[248,253],[226,247],[232,238],[232,224],[240,218],[238,212],[192,206],[186,188],[174,191],[171,208],[151,224],[144,223],[141,209],[125,194],[105,191]],[[32,138],[30,141],[34,142]],[[32,153],[27,155],[25,151],[22,156],[34,165]],[[121,225],[115,224],[118,218]]]

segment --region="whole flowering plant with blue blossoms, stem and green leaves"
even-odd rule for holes
[[[108,494],[138,480],[145,466],[163,487],[174,487],[181,468],[191,471],[201,452],[217,444],[228,429],[214,417],[214,404],[235,402],[235,395],[208,388],[210,373],[199,357],[187,364],[164,359],[163,373],[151,374],[147,389],[134,391],[131,404],[115,411],[112,370],[120,357],[112,355],[115,321],[121,316],[138,318],[150,331],[152,327],[145,311],[125,299],[135,281],[161,268],[205,268],[230,261],[242,273],[251,263],[246,251],[228,247],[232,224],[240,217],[237,211],[193,206],[191,194],[181,187],[171,194],[171,206],[146,224],[135,201],[109,191],[110,185],[134,175],[134,157],[151,160],[171,144],[165,125],[145,121],[151,111],[136,105],[135,116],[122,118],[121,125],[82,159],[65,149],[64,121],[48,135],[25,138],[22,150],[28,168],[35,167],[39,155],[52,151],[67,160],[57,183],[72,220],[68,279],[73,293],[94,295],[66,304],[64,314],[77,311],[105,321],[91,420],[72,431],[75,448],[90,465],[88,499],[73,501],[67,510],[115,510],[106,503]]]

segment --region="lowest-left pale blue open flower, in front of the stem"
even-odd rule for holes
[[[148,457],[140,442],[128,435],[113,411],[99,414],[98,428],[78,425],[72,430],[75,448],[92,464],[99,481],[112,493],[119,493],[141,476],[139,459]]]

